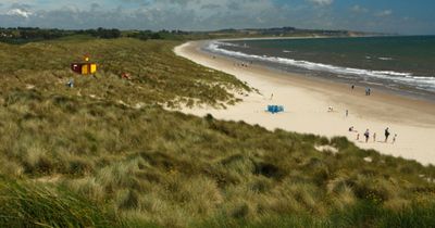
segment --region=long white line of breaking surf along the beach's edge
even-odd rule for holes
[[[232,43],[233,45],[233,43]],[[371,71],[371,69],[361,69],[361,68],[351,68],[351,67],[341,67],[335,66],[330,64],[323,63],[313,63],[303,60],[293,60],[286,58],[278,58],[278,56],[269,56],[269,55],[256,55],[256,54],[246,54],[238,51],[231,51],[226,49],[222,49],[222,46],[228,46],[226,42],[220,41],[211,41],[207,49],[229,55],[235,58],[244,58],[249,60],[258,60],[258,61],[266,61],[272,63],[281,63],[285,65],[297,66],[306,69],[311,71],[321,71],[321,72],[328,72],[334,74],[344,74],[344,75],[357,75],[361,77],[371,77],[384,80],[393,80],[398,84],[405,84],[408,86],[419,86],[426,88],[426,90],[435,91],[435,77],[431,76],[414,76],[411,73],[400,73],[400,72],[393,72],[393,71]]]

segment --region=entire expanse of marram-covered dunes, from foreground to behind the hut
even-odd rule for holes
[[[0,43],[0,204],[11,205],[0,206],[0,225],[434,224],[433,166],[363,151],[343,138],[163,110],[159,104],[232,103],[224,88],[249,90],[176,58],[175,45]],[[69,71],[84,53],[100,64],[97,78]],[[121,79],[123,72],[133,79]],[[71,77],[74,89],[64,86]]]

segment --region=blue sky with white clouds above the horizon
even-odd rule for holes
[[[435,0],[0,0],[0,27],[214,30],[291,26],[435,35]]]

